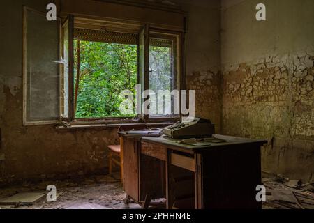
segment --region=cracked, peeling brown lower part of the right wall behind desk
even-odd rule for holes
[[[308,54],[225,66],[224,134],[273,139],[274,144],[262,150],[264,170],[311,180],[313,77],[314,56]]]

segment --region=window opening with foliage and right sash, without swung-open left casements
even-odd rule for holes
[[[172,91],[180,89],[180,34],[121,24],[103,30],[82,20],[75,19],[73,31],[74,118],[179,117]],[[149,115],[136,113],[135,101],[148,100],[136,98],[136,84],[155,92]],[[120,111],[123,90],[134,94],[133,114]]]

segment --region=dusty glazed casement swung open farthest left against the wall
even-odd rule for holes
[[[23,124],[59,121],[60,20],[23,10]]]

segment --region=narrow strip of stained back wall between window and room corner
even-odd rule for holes
[[[195,90],[195,116],[221,130],[220,0],[177,0],[188,12],[186,89]]]

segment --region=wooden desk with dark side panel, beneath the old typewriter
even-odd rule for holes
[[[225,142],[190,146],[142,138],[141,155],[165,162],[167,208],[261,208],[255,187],[262,184],[260,146],[267,141],[214,137]]]

